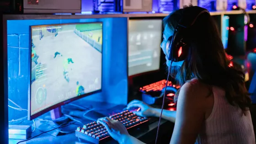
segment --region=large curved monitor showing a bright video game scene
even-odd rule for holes
[[[31,26],[28,119],[101,91],[102,23]]]

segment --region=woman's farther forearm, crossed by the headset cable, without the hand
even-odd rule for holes
[[[160,117],[160,114],[161,114],[161,109],[152,108],[152,116],[151,117]],[[162,118],[175,123],[176,111],[163,110]]]

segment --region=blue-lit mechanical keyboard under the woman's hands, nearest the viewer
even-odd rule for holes
[[[125,128],[129,130],[133,128],[141,128],[141,126],[147,126],[149,121],[148,118],[138,117],[136,114],[128,110],[119,112],[109,118],[123,123]],[[96,122],[85,124],[82,128],[78,127],[75,131],[75,136],[94,144],[101,144],[112,139],[107,133],[106,128],[102,124]]]

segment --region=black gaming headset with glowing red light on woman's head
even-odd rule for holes
[[[192,13],[191,9],[193,9]],[[184,37],[184,32],[186,33],[187,29],[195,23],[197,17],[203,13],[208,13],[210,16],[209,11],[199,6],[193,6],[184,9],[183,16],[179,24],[174,30],[173,35],[168,38],[166,43],[165,48],[168,60],[179,62],[187,58],[190,45]]]

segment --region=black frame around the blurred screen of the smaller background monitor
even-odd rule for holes
[[[129,21],[130,20],[162,20],[162,32],[164,32],[164,23],[163,23],[163,19],[164,17],[130,17],[128,18],[127,21],[127,27],[129,27]],[[163,41],[163,38],[161,39],[161,42]],[[145,71],[145,72],[141,72],[141,73],[137,73],[137,74],[133,74],[133,75],[129,75],[129,28],[127,28],[127,75],[128,75],[128,79],[132,79],[135,77],[139,77],[141,75],[147,75],[147,74],[151,74],[154,72],[159,72],[160,68],[161,68],[161,54],[160,54],[160,61],[159,61],[159,68],[155,69],[155,70],[150,70],[150,71]],[[161,53],[161,49],[160,49],[160,53]]]

